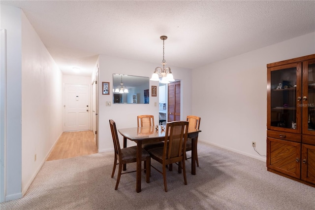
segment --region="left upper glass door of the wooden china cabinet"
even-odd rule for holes
[[[268,68],[267,128],[300,133],[301,63]]]

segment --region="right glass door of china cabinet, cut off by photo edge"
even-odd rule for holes
[[[303,133],[315,134],[315,60],[303,63]]]

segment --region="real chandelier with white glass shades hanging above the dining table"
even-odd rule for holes
[[[167,39],[166,35],[162,35],[160,36],[160,39],[163,40],[163,60],[162,60],[162,66],[163,69],[160,67],[157,67],[156,70],[153,72],[151,79],[152,81],[160,81],[161,83],[169,83],[172,81],[175,81],[175,79],[173,78],[173,74],[171,71],[171,68],[166,67],[165,69],[165,60],[164,60],[164,40]],[[161,80],[160,80],[161,77]]]

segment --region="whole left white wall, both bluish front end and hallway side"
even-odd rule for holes
[[[61,71],[21,9],[1,4],[1,28],[7,30],[5,201],[9,201],[26,192],[63,131],[63,83]]]

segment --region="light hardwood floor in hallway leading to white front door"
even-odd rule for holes
[[[92,131],[65,132],[61,135],[46,161],[97,153]]]

